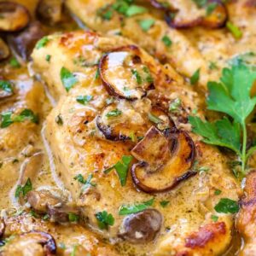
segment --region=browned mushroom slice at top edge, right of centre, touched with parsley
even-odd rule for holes
[[[207,14],[207,10],[198,9],[196,6],[194,11],[192,8],[183,13],[182,7],[178,9],[179,7],[171,1],[168,3],[166,1],[150,0],[150,2],[155,8],[166,10],[166,22],[174,28],[189,28],[194,26],[218,28],[224,26],[228,18],[227,9],[220,0],[207,1],[206,6],[207,4],[212,4],[212,12],[209,14]]]

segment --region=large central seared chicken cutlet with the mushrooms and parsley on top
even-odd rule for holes
[[[32,60],[57,101],[45,135],[84,224],[120,255],[223,253],[233,218],[214,208],[239,189],[191,133],[197,95],[172,67],[128,39],[79,31],[49,36]]]

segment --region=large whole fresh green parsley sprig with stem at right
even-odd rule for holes
[[[219,82],[207,84],[207,109],[225,113],[233,121],[224,117],[210,123],[198,117],[189,117],[193,131],[203,137],[203,142],[230,148],[238,154],[243,175],[246,173],[248,158],[256,150],[256,147],[247,149],[247,117],[256,105],[256,96],[251,97],[255,80],[255,69],[243,63],[224,68]]]

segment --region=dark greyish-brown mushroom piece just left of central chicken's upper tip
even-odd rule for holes
[[[17,54],[24,61],[28,61],[34,46],[44,35],[41,24],[38,21],[34,21],[24,31],[9,36],[9,44],[14,47]]]

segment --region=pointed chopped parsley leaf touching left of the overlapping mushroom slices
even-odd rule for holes
[[[131,164],[132,156],[131,155],[123,155],[122,161],[118,161],[115,165],[111,166],[107,170],[104,171],[105,174],[108,174],[113,169],[117,172],[119,181],[121,186],[125,186],[127,173]]]

